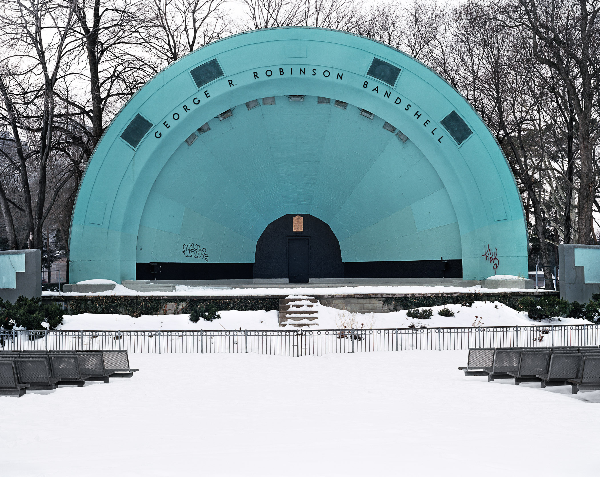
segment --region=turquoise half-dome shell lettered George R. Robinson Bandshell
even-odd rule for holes
[[[280,28],[190,53],[119,111],[80,186],[70,280],[136,279],[136,262],[251,264],[286,214],[326,222],[344,262],[527,274],[514,177],[456,90],[368,38]]]

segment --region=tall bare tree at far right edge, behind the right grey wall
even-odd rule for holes
[[[533,58],[556,71],[575,111],[580,156],[577,229],[581,244],[592,240],[598,186],[594,156],[600,101],[599,13],[600,4],[593,0],[514,0],[497,16],[531,39]]]

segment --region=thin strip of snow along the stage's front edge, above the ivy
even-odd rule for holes
[[[111,282],[110,280],[86,280],[86,282]],[[518,280],[515,280],[518,282]],[[81,283],[86,283],[81,282]],[[116,283],[115,289],[107,290],[97,293],[76,293],[76,292],[61,292],[61,295],[77,297],[77,296],[110,296],[110,295],[139,295],[140,297],[145,296],[165,296],[165,297],[176,297],[178,295],[310,295],[313,294],[344,294],[344,293],[484,293],[484,292],[518,292],[518,291],[531,291],[518,288],[481,288],[481,286],[471,286],[465,288],[464,286],[409,286],[409,285],[361,285],[361,286],[323,286],[322,288],[287,288],[281,287],[269,287],[269,288],[231,288],[229,286],[190,286],[190,285],[177,285],[175,291],[164,292],[164,291],[152,291],[152,292],[140,292],[127,288],[123,285]],[[56,296],[56,291],[44,291],[44,296]]]

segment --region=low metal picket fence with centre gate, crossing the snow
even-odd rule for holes
[[[0,351],[127,349],[130,353],[328,353],[600,344],[599,325],[369,330],[31,331],[0,330]]]

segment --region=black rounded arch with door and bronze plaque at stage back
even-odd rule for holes
[[[294,231],[295,216],[284,215],[263,231],[256,243],[254,278],[287,278],[290,283],[343,278],[340,242],[331,227],[305,214],[302,231]]]

